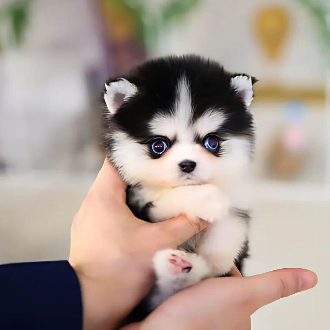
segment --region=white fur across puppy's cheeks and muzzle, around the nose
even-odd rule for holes
[[[127,133],[118,131],[112,137],[116,142],[111,160],[123,178],[131,184],[142,182],[150,190],[208,182],[235,189],[232,181],[241,179],[249,162],[250,142],[238,137],[228,136],[228,140],[222,142],[225,153],[221,157],[215,157],[193,141],[181,143],[178,140],[158,159],[151,159],[148,147],[137,143]],[[185,159],[197,165],[193,172],[182,176],[178,164]]]

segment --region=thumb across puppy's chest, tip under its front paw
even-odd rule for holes
[[[162,230],[170,232],[176,247],[187,241],[190,237],[205,229],[209,223],[202,219],[189,220],[185,215],[158,222],[157,225]]]

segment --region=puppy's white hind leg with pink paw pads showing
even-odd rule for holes
[[[177,291],[209,277],[211,271],[204,258],[180,250],[157,251],[152,262],[157,277],[149,299],[152,310]]]

